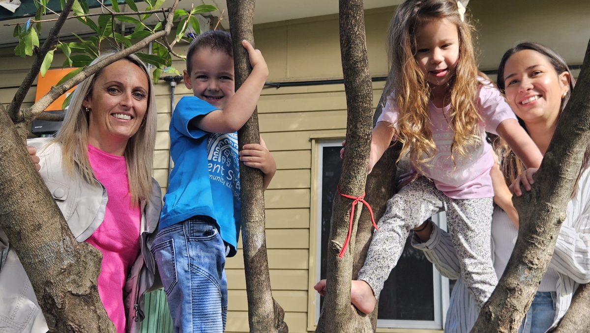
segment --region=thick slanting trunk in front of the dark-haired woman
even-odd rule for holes
[[[515,197],[519,236],[506,271],[471,332],[516,332],[549,266],[590,140],[590,44],[530,192]],[[577,329],[576,329],[577,330]]]

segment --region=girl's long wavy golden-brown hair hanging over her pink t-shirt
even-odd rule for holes
[[[389,74],[385,85],[386,94],[395,92],[398,106],[396,136],[402,142],[400,156],[409,153],[414,167],[428,164],[435,154],[436,146],[428,124],[430,86],[415,60],[416,36],[420,28],[437,19],[448,19],[457,26],[459,58],[457,68],[449,79],[450,114],[448,123],[454,132],[451,144],[451,160],[455,154],[465,156],[469,147],[481,143],[479,122],[481,117],[476,107],[478,85],[477,64],[473,51],[471,31],[473,26],[458,12],[453,0],[407,0],[399,5],[388,31]]]

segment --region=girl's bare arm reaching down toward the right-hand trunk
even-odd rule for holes
[[[527,168],[538,168],[541,165],[543,154],[516,119],[502,121],[496,128],[496,132],[508,143],[516,157],[522,160]]]

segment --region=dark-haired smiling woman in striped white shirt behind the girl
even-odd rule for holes
[[[536,43],[521,43],[506,51],[500,62],[498,87],[539,150],[545,154],[555,132],[560,114],[575,84],[566,62],[555,51]],[[500,166],[508,183],[525,169],[504,144],[497,146]],[[590,174],[589,153],[568,203],[567,217],[560,229],[553,258],[537,289],[533,303],[519,332],[543,333],[555,327],[572,301],[573,292],[581,283],[590,282]],[[496,169],[495,172],[499,172]],[[500,182],[502,183],[502,182]],[[506,183],[496,187],[494,200],[512,205],[512,194]],[[530,189],[529,184],[525,187]],[[514,192],[520,194],[520,188]],[[494,209],[492,241],[494,268],[501,276],[510,258],[518,235],[516,210]],[[512,219],[509,217],[512,216]],[[457,279],[451,294],[445,332],[469,332],[478,315],[473,296],[459,274],[457,257],[449,235],[427,222],[425,229],[414,233],[412,245],[424,250],[427,258],[448,278]]]

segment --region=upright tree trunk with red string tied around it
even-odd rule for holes
[[[340,55],[348,117],[346,153],[338,187],[343,194],[359,197],[365,189],[373,124],[373,93],[366,54],[363,1],[340,0],[339,12]],[[350,304],[350,278],[358,228],[356,222],[362,210],[362,204],[359,203],[349,231],[352,203],[351,199],[342,196],[334,199],[327,249],[327,292],[316,332],[373,331],[369,316],[360,315]],[[345,245],[347,235],[350,236],[348,248],[340,258],[339,253]]]

